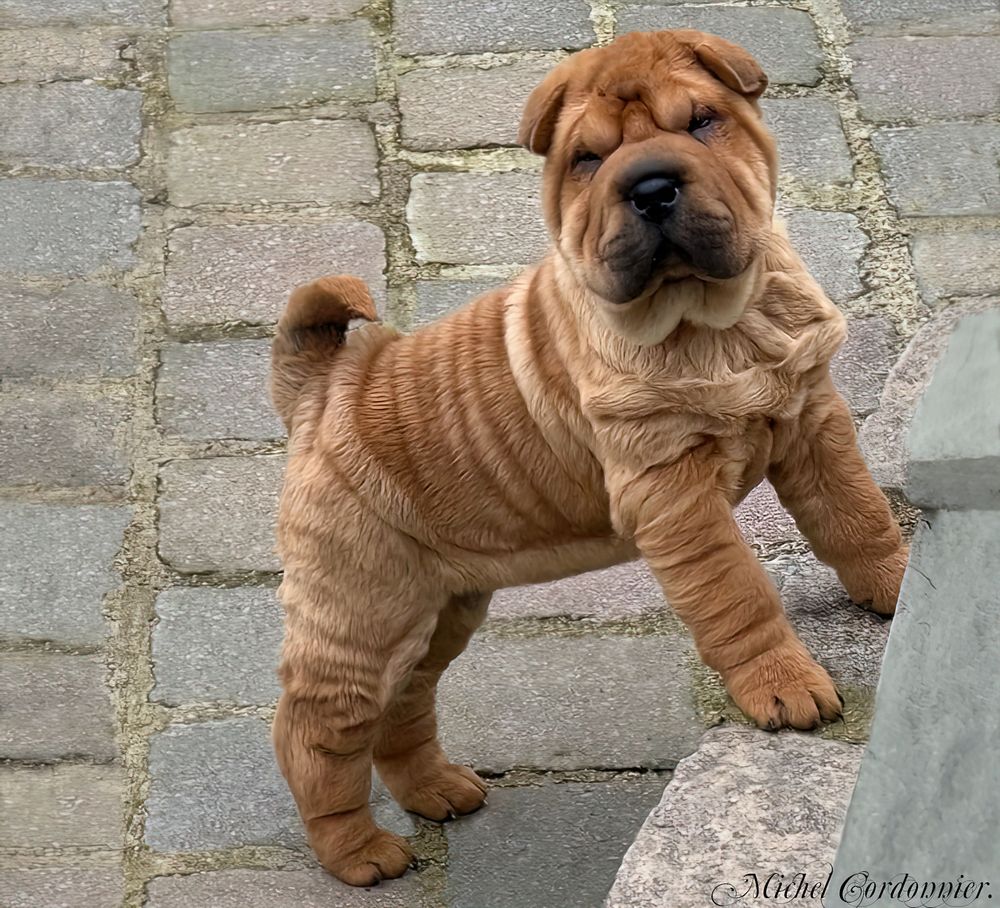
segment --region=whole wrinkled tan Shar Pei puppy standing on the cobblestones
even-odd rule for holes
[[[732,508],[767,476],[883,614],[907,553],[830,381],[844,319],[773,223],[766,81],[693,31],[579,53],[521,125],[546,157],[541,264],[408,337],[347,331],[375,319],[354,278],[292,295],[272,387],[291,434],[274,740],[342,880],[410,862],[369,812],[373,760],[425,817],[483,803],[438,744],[434,693],[499,587],[641,556],[748,716],[840,713]]]

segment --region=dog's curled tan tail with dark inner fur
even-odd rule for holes
[[[330,275],[292,291],[271,347],[271,400],[289,430],[303,387],[326,374],[348,323],[356,318],[378,319],[359,278]]]

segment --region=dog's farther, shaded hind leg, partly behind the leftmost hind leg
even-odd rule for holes
[[[430,820],[472,813],[486,800],[486,783],[444,755],[434,701],[438,679],[465,649],[489,601],[488,593],[456,596],[441,612],[427,655],[390,707],[375,746],[375,767],[393,797]]]

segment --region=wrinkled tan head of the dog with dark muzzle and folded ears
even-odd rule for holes
[[[575,54],[532,93],[519,139],[546,157],[549,229],[605,306],[669,305],[661,291],[739,279],[761,254],[777,177],[766,85],[741,47],[677,30]]]

